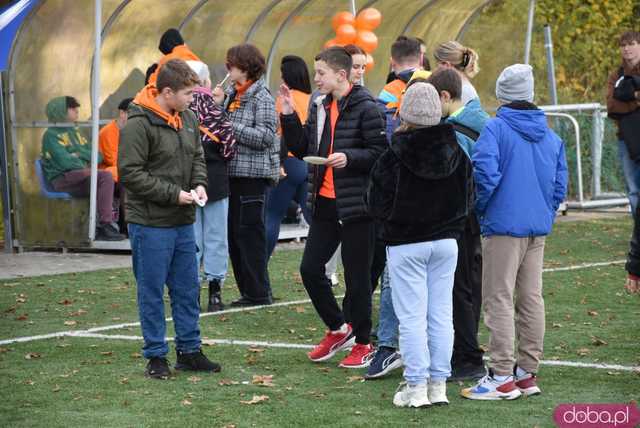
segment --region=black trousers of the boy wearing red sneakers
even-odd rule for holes
[[[348,316],[338,306],[325,275],[325,264],[342,243]],[[369,343],[371,332],[371,261],[375,245],[372,220],[338,221],[335,199],[318,197],[304,247],[300,274],[313,306],[330,330],[351,322],[356,342]]]

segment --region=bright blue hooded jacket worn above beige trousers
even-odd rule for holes
[[[542,110],[528,103],[520,108],[499,108],[474,147],[475,209],[483,236],[548,235],[567,192],[562,140]]]

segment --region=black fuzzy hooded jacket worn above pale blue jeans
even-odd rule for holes
[[[457,239],[472,183],[471,162],[451,125],[396,132],[371,171],[367,209],[382,222],[387,245]]]

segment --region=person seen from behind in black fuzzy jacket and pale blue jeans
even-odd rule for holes
[[[369,212],[382,223],[400,321],[406,383],[393,397],[399,407],[449,403],[456,239],[470,205],[471,162],[441,116],[436,89],[410,84],[402,123],[373,167],[367,191]]]

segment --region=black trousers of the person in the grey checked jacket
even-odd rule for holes
[[[229,257],[240,294],[256,303],[271,301],[265,226],[268,187],[263,178],[229,179]]]

